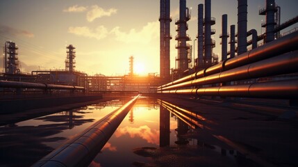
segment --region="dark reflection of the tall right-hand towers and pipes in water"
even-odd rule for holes
[[[176,128],[170,126],[176,134],[176,147],[171,145],[171,142],[163,141],[163,148],[137,148],[134,150],[135,154],[139,154],[143,157],[152,157],[156,165],[153,166],[258,166],[251,159],[247,159],[245,155],[240,154],[222,140],[218,140],[219,137],[213,134],[209,134],[206,129],[209,127],[204,126],[204,122],[211,122],[206,118],[200,116],[198,113],[182,109],[179,106],[165,102],[163,100],[157,100],[160,104],[160,125],[167,122],[166,118],[163,118],[165,111],[171,113],[171,118],[176,121]],[[163,119],[161,119],[163,118]],[[203,122],[204,120],[204,122]],[[165,121],[165,122],[162,122]],[[170,120],[171,124],[173,123]],[[160,138],[166,134],[162,134],[162,128],[160,128]],[[166,137],[164,137],[165,139]],[[173,138],[170,138],[172,140]],[[192,141],[190,143],[190,141]],[[160,139],[160,147],[162,147],[162,140]],[[166,146],[165,143],[170,143]],[[210,145],[210,143],[216,143],[218,145]],[[221,145],[221,146],[219,146]],[[140,164],[139,164],[140,165]],[[140,166],[146,166],[142,164]]]

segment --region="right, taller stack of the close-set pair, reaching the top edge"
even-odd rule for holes
[[[212,64],[212,41],[211,41],[211,0],[205,0],[205,65]]]

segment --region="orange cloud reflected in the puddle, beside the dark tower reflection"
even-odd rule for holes
[[[129,134],[131,138],[138,136],[146,140],[148,143],[154,143],[156,145],[159,144],[159,131],[150,129],[150,127],[148,127],[147,125],[143,125],[140,127],[118,128],[115,132],[117,138],[125,134]]]

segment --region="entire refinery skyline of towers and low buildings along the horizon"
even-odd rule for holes
[[[133,72],[134,59],[131,56],[127,62],[129,64],[129,74],[123,76],[95,74],[90,76],[85,72],[76,70],[76,47],[73,45],[66,47],[65,70],[35,70],[31,74],[24,74],[19,68],[18,50],[22,48],[18,48],[15,42],[7,41],[3,49],[3,73],[1,73],[0,79],[4,81],[82,86],[88,92],[140,91],[142,93],[155,93],[158,86],[167,84],[169,81],[181,79],[206,68],[217,67],[231,58],[274,40],[279,40],[285,35],[294,34],[295,36],[297,28],[287,33],[280,32],[296,24],[298,16],[281,23],[281,8],[277,6],[274,0],[266,0],[265,4],[265,7],[259,11],[259,15],[265,16],[265,22],[262,24],[265,32],[261,34],[258,34],[256,29],[247,30],[247,0],[238,0],[237,24],[228,25],[227,19],[229,16],[222,15],[222,18],[220,18],[222,19],[220,23],[222,29],[219,35],[222,52],[221,55],[217,55],[213,53],[215,40],[213,40],[212,35],[215,35],[215,29],[212,29],[212,26],[215,25],[215,17],[211,15],[211,0],[205,0],[204,4],[198,4],[197,27],[188,26],[191,15],[186,0],[179,0],[179,18],[175,19],[174,23],[172,23],[172,17],[170,16],[170,1],[160,0],[160,17],[158,18],[160,22],[160,74],[135,75]],[[173,39],[177,41],[175,46],[170,46],[170,40],[172,40],[172,34],[170,34],[171,24],[176,25],[176,35]],[[195,39],[190,39],[187,33],[188,29],[197,29]],[[249,36],[251,36],[251,40],[247,40]],[[190,45],[190,40],[197,40],[197,46]],[[170,62],[171,47],[177,49],[175,62]],[[197,55],[192,60],[192,51],[195,52],[194,49],[196,49]],[[221,62],[219,62],[219,56]],[[174,64],[175,68],[171,69],[171,64]],[[79,67],[77,68],[79,69]],[[282,77],[286,78],[288,76],[293,77],[296,75],[290,74]],[[272,80],[274,78],[276,77],[266,77],[260,80]]]

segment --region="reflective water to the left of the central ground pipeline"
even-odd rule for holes
[[[94,118],[112,111],[108,107],[99,113],[90,108],[92,106],[85,106],[0,127],[0,166],[31,166],[68,138],[89,127]],[[109,149],[116,148],[110,146]]]

